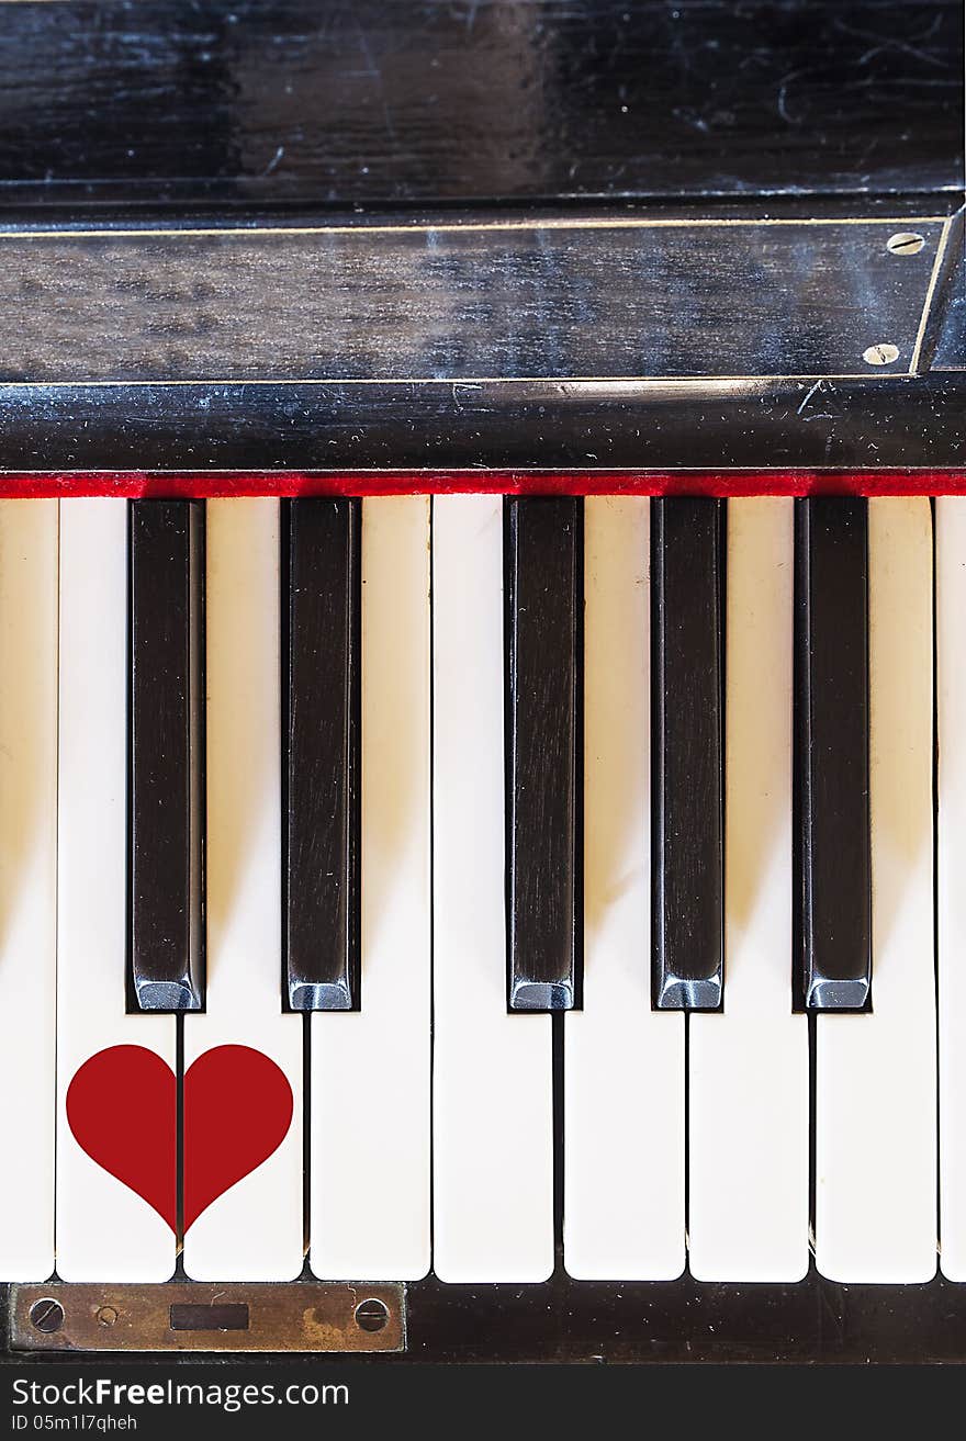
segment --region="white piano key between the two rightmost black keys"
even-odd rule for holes
[[[809,1029],[792,1010],[793,501],[728,501],[725,990],[689,1020],[699,1281],[809,1267]]]

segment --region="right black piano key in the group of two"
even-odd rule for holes
[[[362,501],[283,520],[285,986],[293,1010],[359,1007]]]

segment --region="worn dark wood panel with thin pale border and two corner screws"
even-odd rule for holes
[[[894,233],[921,248],[890,251]],[[482,220],[0,232],[0,379],[907,372],[944,223]]]

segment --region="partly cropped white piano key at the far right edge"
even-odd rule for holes
[[[936,501],[940,1265],[966,1281],[966,500]]]

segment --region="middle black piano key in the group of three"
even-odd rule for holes
[[[715,1010],[724,977],[724,501],[652,506],[653,1001]]]

